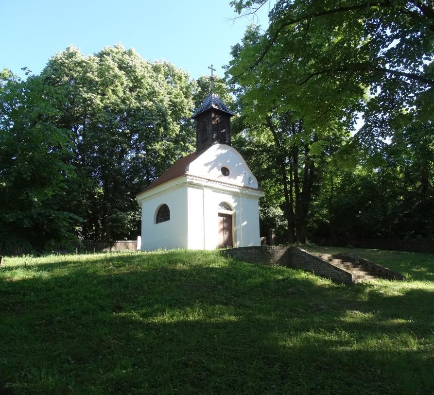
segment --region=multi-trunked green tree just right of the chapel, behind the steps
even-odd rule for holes
[[[242,107],[243,136],[259,142],[256,148],[263,150],[262,166],[267,167],[267,176],[273,177],[274,184],[281,186],[287,238],[305,242],[312,196],[327,156],[348,134],[360,88],[345,89],[347,81],[339,80],[323,85],[307,82],[300,87],[292,76],[309,66],[301,64],[299,56],[290,52],[289,58],[279,65],[275,59],[267,58],[244,72],[263,43],[259,29],[249,28],[242,44],[233,47],[227,73],[233,77]],[[323,48],[327,43],[328,37],[324,37],[322,47],[320,43],[317,46]],[[279,84],[283,85],[279,88]],[[330,92],[334,96],[332,106],[318,100],[318,95]],[[309,106],[305,105],[306,98],[311,99]]]

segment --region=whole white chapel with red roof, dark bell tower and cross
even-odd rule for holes
[[[211,91],[192,115],[196,152],[184,156],[137,195],[142,251],[260,245],[263,192],[231,147],[234,113]]]

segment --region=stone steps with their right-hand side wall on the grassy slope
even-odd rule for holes
[[[374,280],[376,278],[404,280],[405,277],[400,273],[394,272],[383,266],[377,265],[364,258],[353,254],[321,254],[311,253],[329,264],[349,272],[353,283],[359,283],[366,280]]]

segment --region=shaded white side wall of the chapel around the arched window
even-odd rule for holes
[[[156,211],[166,204],[170,221],[156,223]],[[187,188],[182,186],[142,202],[141,250],[187,248]]]

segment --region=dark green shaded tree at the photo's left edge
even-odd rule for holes
[[[0,85],[0,240],[41,249],[73,237],[80,219],[62,205],[75,179],[68,131],[52,120],[56,87],[2,73]]]

